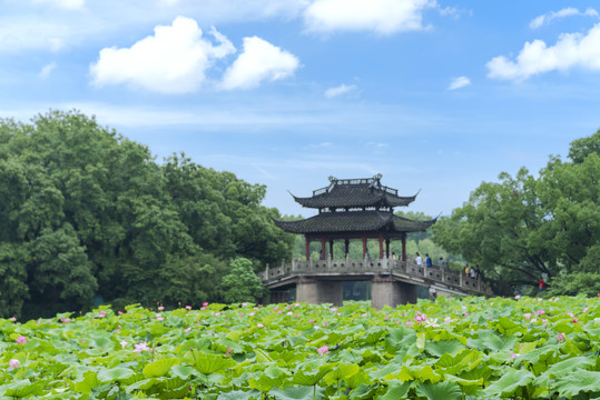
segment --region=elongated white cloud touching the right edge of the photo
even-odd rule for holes
[[[515,61],[499,56],[489,61],[486,67],[489,78],[517,81],[574,67],[600,71],[600,23],[587,34],[561,34],[554,46],[548,47],[543,40],[525,42]]]

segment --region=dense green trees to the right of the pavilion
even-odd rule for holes
[[[544,276],[555,293],[572,293],[564,284],[600,267],[599,151],[600,130],[571,143],[570,161],[551,157],[537,178],[523,168],[481,183],[433,227],[434,241],[479,263],[496,292]],[[598,280],[584,289],[597,293]]]

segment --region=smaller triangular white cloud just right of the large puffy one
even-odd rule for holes
[[[244,38],[244,52],[225,71],[222,88],[252,89],[264,80],[291,77],[298,67],[294,54],[260,38]]]

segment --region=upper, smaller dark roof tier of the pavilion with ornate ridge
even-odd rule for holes
[[[381,174],[366,179],[337,179],[329,177],[331,184],[313,191],[312,197],[294,200],[307,208],[362,208],[372,206],[409,206],[415,196],[401,197],[397,190],[381,184]]]

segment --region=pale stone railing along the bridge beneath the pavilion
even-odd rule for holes
[[[490,287],[481,279],[466,277],[462,272],[452,271],[443,267],[417,266],[414,261],[400,261],[392,259],[364,259],[353,260],[350,258],[342,260],[302,260],[292,259],[291,263],[285,260],[279,267],[267,264],[263,272],[258,272],[258,278],[263,283],[278,281],[286,277],[311,273],[338,273],[338,274],[361,274],[361,273],[385,273],[396,272],[417,280],[426,279],[430,283],[443,283],[445,286],[460,288],[471,292],[492,293]]]

